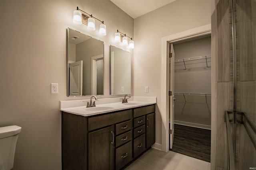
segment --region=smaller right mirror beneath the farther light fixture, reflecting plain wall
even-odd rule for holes
[[[110,95],[131,94],[131,53],[110,45]]]

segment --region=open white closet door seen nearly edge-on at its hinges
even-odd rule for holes
[[[173,44],[170,44],[169,55],[169,136],[170,149],[172,149],[174,139],[174,49]]]

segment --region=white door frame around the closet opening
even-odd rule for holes
[[[193,37],[199,37],[202,35],[207,35],[211,33],[211,24],[203,25],[201,27],[196,27],[180,33],[175,33],[162,37],[162,70],[161,70],[161,104],[160,104],[160,114],[162,117],[162,146],[161,150],[167,152],[169,150],[169,106],[168,106],[168,87],[169,87],[169,73],[168,70],[168,60],[169,60],[169,43],[174,43],[176,41],[181,41],[185,39],[190,39]]]

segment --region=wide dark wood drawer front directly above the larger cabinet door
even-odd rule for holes
[[[88,131],[132,119],[132,110],[119,111],[88,118]]]

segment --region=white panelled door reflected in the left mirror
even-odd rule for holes
[[[69,65],[69,95],[82,96],[83,61],[77,61]]]

